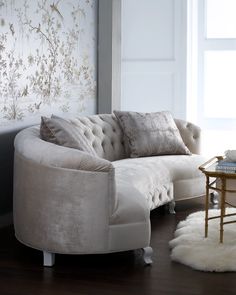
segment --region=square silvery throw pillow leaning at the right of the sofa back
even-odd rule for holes
[[[170,112],[114,111],[124,132],[130,157],[189,155]]]

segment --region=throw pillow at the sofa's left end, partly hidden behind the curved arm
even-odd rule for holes
[[[94,148],[90,145],[82,131],[60,117],[41,117],[40,136],[45,141],[97,156]]]

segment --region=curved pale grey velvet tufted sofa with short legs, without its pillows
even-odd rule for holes
[[[16,238],[44,253],[96,254],[144,249],[151,263],[150,210],[204,194],[200,129],[175,120],[192,155],[127,158],[114,115],[81,117],[96,156],[40,138],[39,126],[15,138]],[[173,208],[172,208],[173,209]]]

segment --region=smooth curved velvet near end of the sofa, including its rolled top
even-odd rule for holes
[[[21,242],[53,253],[107,252],[115,202],[109,161],[42,141],[36,127],[16,136],[13,205]]]

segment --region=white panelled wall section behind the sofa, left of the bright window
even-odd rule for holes
[[[186,118],[185,2],[122,1],[122,110]]]

